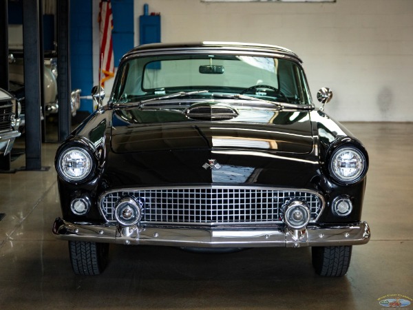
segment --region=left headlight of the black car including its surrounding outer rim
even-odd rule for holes
[[[74,163],[76,167],[74,167]],[[81,143],[73,143],[61,149],[56,158],[56,170],[59,176],[70,183],[83,183],[89,180],[96,168],[96,158]],[[75,172],[74,169],[77,169]]]

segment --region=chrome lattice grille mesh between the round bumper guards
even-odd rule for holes
[[[125,189],[100,197],[100,211],[109,222],[116,221],[116,203],[125,196],[144,203],[141,220],[144,224],[280,223],[283,206],[294,198],[306,201],[314,221],[323,207],[320,196],[303,190],[249,187]]]

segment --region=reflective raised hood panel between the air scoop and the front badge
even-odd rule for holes
[[[308,112],[277,112],[265,123],[204,122],[184,118],[169,123],[162,120],[146,123],[131,122],[114,113],[112,151],[120,154],[171,149],[241,149],[308,154],[313,150],[311,132]]]

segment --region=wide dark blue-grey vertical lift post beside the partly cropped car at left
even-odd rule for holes
[[[27,170],[41,169],[41,1],[23,2],[23,48],[25,85],[25,162]]]

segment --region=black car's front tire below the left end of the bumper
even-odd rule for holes
[[[109,243],[69,241],[69,254],[74,273],[81,276],[98,275],[107,265]]]

